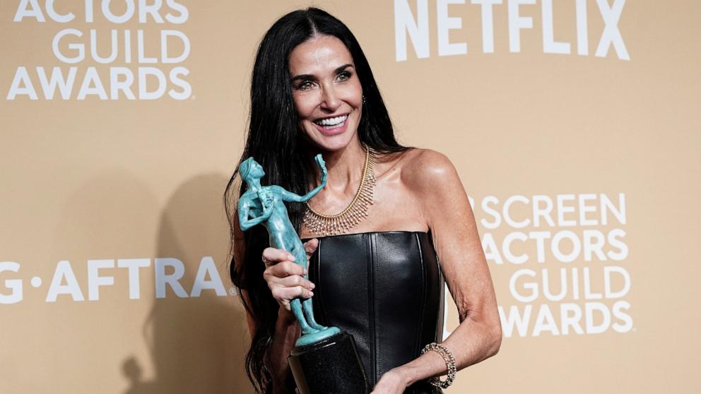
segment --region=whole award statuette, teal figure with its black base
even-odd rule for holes
[[[324,159],[322,155],[317,155],[314,161],[322,171],[322,183],[304,196],[298,196],[277,185],[261,186],[265,172],[253,157],[249,157],[239,167],[241,179],[248,185],[238,203],[242,231],[263,225],[268,230],[270,246],[292,253],[295,263],[304,268],[307,268],[307,253],[290,222],[284,202],[304,203],[324,188],[327,177]],[[305,275],[305,279],[307,277]],[[290,302],[292,312],[302,327],[302,336],[295,342],[295,348],[288,357],[299,392],[369,393],[370,388],[353,336],[337,327],[325,327],[314,321],[312,298],[293,299]]]

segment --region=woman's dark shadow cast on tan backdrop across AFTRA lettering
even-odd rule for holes
[[[222,174],[204,174],[179,186],[161,214],[156,256],[182,261],[179,282],[188,296],[202,258],[211,256],[227,295],[203,289],[200,297],[180,298],[166,286],[166,297],[154,299],[143,324],[155,376],[144,381],[143,362],[127,357],[122,362],[129,382],[125,394],[254,393],[244,369],[249,341],[245,311],[230,295],[221,197],[227,181]],[[172,272],[166,269],[166,274]]]

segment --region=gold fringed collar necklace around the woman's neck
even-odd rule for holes
[[[363,178],[360,179],[360,186],[355,192],[353,201],[350,201],[348,207],[336,215],[319,213],[312,209],[307,201],[307,210],[302,222],[310,232],[320,236],[346,234],[360,220],[367,217],[367,208],[372,204],[372,189],[375,188],[376,181],[375,172],[372,171],[375,165],[375,151],[365,144],[363,148],[365,148]]]

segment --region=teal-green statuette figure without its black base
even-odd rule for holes
[[[322,183],[304,196],[298,196],[277,185],[261,186],[261,178],[265,172],[253,157],[246,159],[239,167],[241,179],[248,185],[247,191],[243,193],[238,203],[242,231],[255,225],[264,225],[268,229],[270,246],[292,253],[295,256],[295,263],[304,268],[307,268],[307,253],[295,227],[290,222],[284,202],[305,203],[326,186],[328,173],[322,155],[314,157],[314,161],[322,170]],[[308,276],[305,275],[305,279]],[[303,301],[299,298],[293,299],[290,306],[295,318],[302,326],[302,336],[295,342],[296,346],[310,345],[341,332],[336,327],[325,327],[314,321],[311,298]]]

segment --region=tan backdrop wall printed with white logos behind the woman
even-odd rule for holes
[[[252,393],[222,193],[310,5],[0,1],[1,393]],[[700,3],[313,5],[471,198],[504,340],[447,393],[699,393]]]

